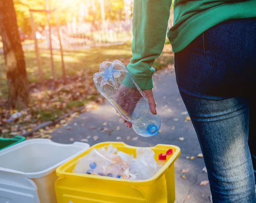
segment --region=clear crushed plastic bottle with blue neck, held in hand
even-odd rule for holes
[[[132,123],[137,134],[143,137],[158,134],[160,116],[151,113],[148,99],[122,62],[102,62],[93,81],[120,116]]]

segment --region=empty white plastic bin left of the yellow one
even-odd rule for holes
[[[90,147],[31,139],[0,151],[0,203],[57,203],[55,169]]]

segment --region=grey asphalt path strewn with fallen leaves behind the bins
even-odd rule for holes
[[[207,173],[202,171],[204,168],[203,158],[197,158],[201,149],[192,123],[191,121],[185,122],[187,115],[181,114],[186,112],[186,108],[177,89],[174,69],[155,73],[154,83],[157,113],[162,120],[162,132],[156,137],[138,136],[122,123],[113,107],[106,102],[96,110],[83,113],[75,118],[68,125],[72,127],[72,130],[66,130],[66,127],[56,130],[52,133],[52,140],[60,143],[72,143],[90,135],[91,138],[88,139],[90,145],[103,141],[116,141],[116,137],[121,137],[119,141],[124,141],[126,144],[141,147],[154,146],[159,143],[177,145],[181,149],[181,155],[175,162],[176,203],[210,203],[209,185],[199,186],[201,181],[208,180]],[[84,117],[87,119],[83,119]],[[105,122],[107,125],[102,125]],[[120,129],[116,130],[118,126]],[[89,127],[96,128],[90,130]],[[100,128],[104,127],[113,130],[113,133],[109,135],[107,131],[101,132]],[[61,131],[61,134],[58,134],[58,131]],[[99,136],[97,141],[93,140],[95,135]],[[131,137],[128,141],[127,136]],[[137,140],[132,140],[137,136]],[[183,137],[184,140],[180,141],[180,137]],[[195,156],[195,159],[186,159],[187,156]],[[186,173],[185,180],[180,172],[187,168],[189,168],[189,172]]]

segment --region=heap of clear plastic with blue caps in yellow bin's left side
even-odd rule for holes
[[[109,145],[107,149],[105,147],[92,149],[79,160],[73,172],[127,178],[129,165],[119,155],[116,155],[117,152],[118,150],[112,145]]]

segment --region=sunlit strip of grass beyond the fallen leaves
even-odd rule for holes
[[[35,51],[24,51],[26,60],[26,71],[29,83],[39,82],[38,66]],[[52,79],[50,52],[40,50],[44,79]],[[103,47],[93,47],[90,49],[80,49],[76,51],[64,51],[64,62],[66,74],[76,75],[80,70],[84,73],[93,75],[99,70],[99,64],[103,61],[120,60],[127,65],[131,59],[131,42],[123,45],[111,45]],[[54,68],[57,78],[61,78],[61,55],[59,51],[53,51]],[[153,67],[158,70],[172,63],[174,60],[171,52],[171,45],[166,42],[162,55],[156,59]],[[6,74],[4,56],[0,55],[0,96],[6,96]]]

